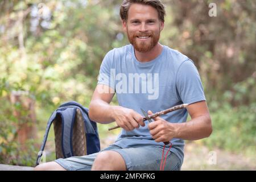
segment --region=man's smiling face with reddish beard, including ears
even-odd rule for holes
[[[123,22],[129,42],[139,52],[148,52],[158,43],[163,27],[154,7],[137,3],[130,6],[127,22]]]

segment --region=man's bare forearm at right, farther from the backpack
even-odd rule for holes
[[[212,133],[210,117],[200,116],[185,123],[174,123],[176,132],[175,138],[184,140],[198,140],[207,138]]]

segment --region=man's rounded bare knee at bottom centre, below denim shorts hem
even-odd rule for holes
[[[118,152],[103,151],[100,152],[94,160],[92,170],[126,170],[126,164],[122,156]]]

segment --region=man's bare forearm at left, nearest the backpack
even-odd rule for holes
[[[114,122],[114,107],[117,106],[111,106],[102,100],[94,100],[89,106],[89,118],[102,124]]]

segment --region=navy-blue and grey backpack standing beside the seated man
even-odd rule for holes
[[[41,162],[49,129],[53,123],[56,159],[89,155],[100,151],[97,124],[89,119],[89,109],[70,101],[60,105],[48,120],[43,143],[36,159]]]

